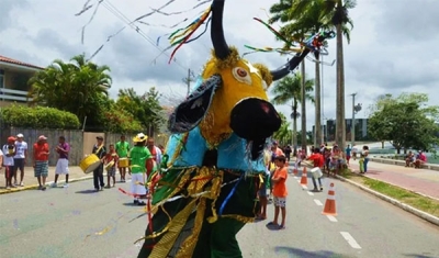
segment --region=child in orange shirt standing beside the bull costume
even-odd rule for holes
[[[284,155],[280,155],[275,157],[275,166],[278,167],[271,178],[271,182],[273,183],[273,197],[274,197],[274,220],[270,222],[268,225],[277,226],[279,229],[285,228],[285,216],[286,216],[286,166],[285,166],[286,158]],[[282,211],[282,222],[279,225],[279,211]]]

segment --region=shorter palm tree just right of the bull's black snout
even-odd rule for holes
[[[273,97],[273,102],[274,104],[286,104],[288,102],[292,101],[292,113],[291,113],[291,119],[293,120],[293,147],[294,147],[294,155],[296,155],[297,152],[297,117],[300,116],[300,113],[297,112],[297,105],[299,103],[304,106],[304,102],[306,100],[309,100],[314,102],[314,98],[311,93],[313,91],[313,86],[314,81],[308,79],[305,80],[305,98],[302,98],[302,75],[301,74],[294,74],[293,76],[286,76],[280,81],[278,81],[274,87],[272,92],[274,93]],[[302,101],[305,100],[305,101]],[[306,132],[303,131],[303,132]],[[306,134],[305,134],[306,137]],[[302,141],[303,142],[303,141]],[[303,144],[302,144],[303,145]],[[306,146],[306,138],[305,138],[305,146]]]

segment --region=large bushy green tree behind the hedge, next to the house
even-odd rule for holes
[[[76,114],[90,126],[103,125],[103,112],[109,108],[108,90],[112,79],[108,66],[87,61],[85,55],[70,63],[54,60],[31,78],[29,97],[33,104],[43,104]]]

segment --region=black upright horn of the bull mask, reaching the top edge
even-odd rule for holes
[[[215,56],[219,59],[225,59],[230,54],[223,30],[224,1],[214,0],[212,4],[211,38]]]

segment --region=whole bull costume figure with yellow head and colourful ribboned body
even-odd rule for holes
[[[224,2],[214,0],[189,26],[199,27],[212,14],[214,49],[201,82],[169,117],[172,135],[139,258],[243,257],[236,234],[259,211],[257,193],[267,169],[262,153],[282,122],[266,90],[309,51],[274,71],[251,65],[224,38]],[[177,42],[189,42],[194,30],[185,32]]]

